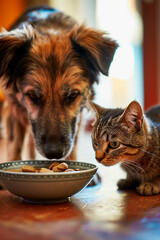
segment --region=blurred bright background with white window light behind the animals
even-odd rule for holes
[[[8,29],[27,7],[41,4],[104,30],[118,41],[109,77],[100,76],[97,103],[126,107],[137,100],[145,110],[159,103],[159,0],[5,0],[0,1],[0,26]]]

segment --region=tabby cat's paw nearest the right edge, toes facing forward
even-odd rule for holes
[[[160,187],[154,183],[146,182],[142,183],[139,187],[137,187],[137,191],[140,195],[151,196],[160,193]]]

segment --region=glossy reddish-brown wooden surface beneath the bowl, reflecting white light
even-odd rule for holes
[[[0,191],[0,239],[159,240],[160,195],[118,191],[121,175],[103,168],[102,184],[59,204],[29,204]]]

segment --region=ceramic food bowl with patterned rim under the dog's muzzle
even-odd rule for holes
[[[80,171],[60,173],[14,172],[15,169],[20,169],[25,165],[48,168],[53,160],[6,162],[0,163],[0,182],[9,192],[28,202],[63,202],[85,188],[98,169],[96,165],[86,162],[58,162],[66,162],[69,168],[78,168]]]

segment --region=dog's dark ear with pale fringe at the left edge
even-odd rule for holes
[[[0,33],[0,77],[6,88],[16,88],[17,74],[22,74],[20,62],[26,56],[33,38],[32,27],[23,27]]]

